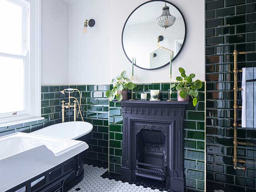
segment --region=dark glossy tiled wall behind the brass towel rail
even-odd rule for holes
[[[233,168],[233,51],[238,69],[255,67],[256,0],[206,0],[206,186],[207,191],[256,192],[256,131],[238,129],[238,159],[243,170]],[[238,86],[242,75],[238,74]],[[241,91],[238,105],[242,105]],[[238,123],[241,123],[238,109]]]

